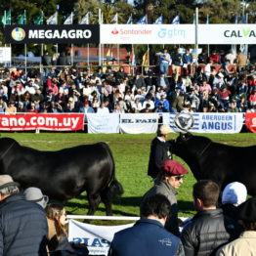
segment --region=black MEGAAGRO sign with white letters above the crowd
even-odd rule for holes
[[[100,43],[99,24],[6,25],[6,43]]]

